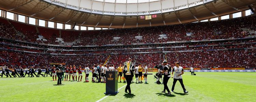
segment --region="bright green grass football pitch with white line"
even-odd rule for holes
[[[83,73],[84,74],[84,73]],[[154,73],[153,73],[154,75]],[[63,81],[57,86],[52,77],[0,78],[2,102],[167,102],[167,101],[256,101],[256,73],[254,72],[185,72],[183,82],[188,94],[183,94],[179,82],[172,95],[161,93],[163,84],[155,84],[148,75],[149,84],[131,84],[132,95],[125,93],[124,83],[118,83],[117,95],[105,95],[105,84]],[[92,74],[89,75],[91,81]],[[5,76],[4,76],[5,77]],[[77,76],[78,78],[78,76]],[[135,78],[134,78],[135,79]],[[171,89],[173,79],[168,82]],[[123,80],[122,80],[123,82]],[[144,80],[143,80],[144,82]],[[124,87],[123,87],[124,86]]]

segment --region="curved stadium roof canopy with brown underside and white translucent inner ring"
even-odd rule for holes
[[[256,7],[255,0],[1,0],[9,12],[88,27],[132,28],[179,24]],[[156,17],[145,20],[145,15]],[[140,16],[143,16],[142,19]]]

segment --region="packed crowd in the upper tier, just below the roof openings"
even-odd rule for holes
[[[38,35],[47,39],[47,44],[58,44],[55,42],[56,37],[63,38],[66,42],[80,40],[77,45],[108,45],[108,44],[131,44],[131,43],[161,43],[167,41],[183,40],[204,40],[204,39],[223,39],[223,38],[240,38],[255,35],[244,32],[241,29],[246,28],[256,30],[256,17],[242,17],[237,19],[199,22],[189,24],[178,24],[172,26],[144,27],[132,29],[113,29],[101,31],[68,31],[50,28],[36,27],[10,21],[0,18],[0,36],[16,40],[43,43],[36,41]],[[23,37],[16,37],[16,32],[23,32]],[[216,33],[221,32],[221,33]],[[186,33],[193,33],[186,36]],[[166,39],[158,39],[160,34],[166,34]],[[138,40],[135,36],[142,36]],[[120,37],[119,40],[113,41],[113,37]]]

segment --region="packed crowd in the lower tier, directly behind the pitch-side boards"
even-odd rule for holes
[[[33,54],[14,51],[2,51],[0,53],[0,65],[8,67],[49,67],[49,63],[66,63],[68,65],[85,65],[104,63],[109,55],[76,55],[54,56],[45,54]],[[171,52],[147,53],[147,54],[114,54],[108,60],[108,64],[118,66],[127,58],[132,58],[134,63],[147,63],[149,68],[160,64],[165,58],[169,62],[179,61],[183,68],[255,68],[256,50],[226,50],[226,51],[197,51],[197,52]]]

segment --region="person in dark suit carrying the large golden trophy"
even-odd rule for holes
[[[125,67],[125,70],[127,70],[127,72],[125,73],[125,78],[126,78],[126,81],[127,81],[127,85],[125,87],[125,92],[127,92],[127,90],[129,91],[129,95],[131,95],[131,88],[130,88],[130,85],[131,85],[131,80],[132,80],[132,75],[131,75],[131,72],[134,71],[134,65],[133,63],[131,63],[131,58],[128,59],[128,61],[126,63],[124,63],[124,67]]]

